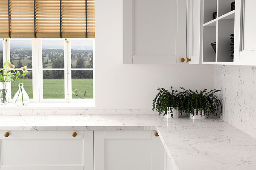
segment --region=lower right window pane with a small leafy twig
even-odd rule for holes
[[[72,70],[71,75],[72,99],[93,99],[93,70]]]

